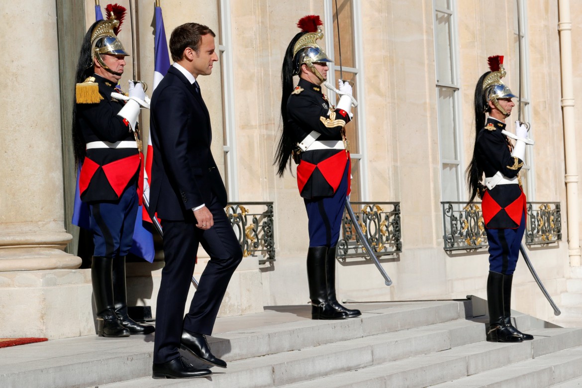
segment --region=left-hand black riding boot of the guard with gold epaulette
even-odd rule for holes
[[[91,259],[91,283],[97,308],[97,334],[100,337],[127,337],[129,330],[124,328],[115,315],[113,304],[113,259],[93,256]]]

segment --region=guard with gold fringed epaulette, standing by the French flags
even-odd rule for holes
[[[141,83],[129,81],[129,95],[116,88],[129,55],[117,38],[125,8],[109,9],[109,19],[93,23],[81,47],[73,147],[77,165],[82,164],[80,197],[90,208],[95,245],[91,282],[98,335],[126,337],[154,332],[127,315],[125,279],[143,181],[137,117],[141,106],[149,106]]]

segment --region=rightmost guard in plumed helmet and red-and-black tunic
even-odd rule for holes
[[[501,80],[503,56],[489,57],[490,72],[484,73],[475,87],[475,145],[467,168],[469,204],[477,194],[482,198],[483,220],[489,243],[488,340],[521,342],[531,334],[521,333],[511,323],[511,291],[521,239],[526,229],[526,195],[520,169],[523,167],[528,139],[526,124],[516,122],[515,143],[503,133],[516,95]],[[484,180],[481,179],[485,176]]]

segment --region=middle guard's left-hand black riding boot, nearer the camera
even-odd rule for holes
[[[309,247],[307,251],[307,282],[311,299],[312,319],[344,319],[347,313],[336,310],[327,294],[325,258],[327,247]]]

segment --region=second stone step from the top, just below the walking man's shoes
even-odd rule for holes
[[[154,380],[148,376],[102,385],[100,388],[279,387],[367,366],[399,362],[418,355],[439,353],[456,346],[474,346],[477,341],[484,343],[484,337],[485,331],[481,323],[462,319],[243,359],[230,363],[226,371],[214,368],[214,374],[207,379]]]

